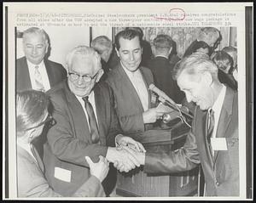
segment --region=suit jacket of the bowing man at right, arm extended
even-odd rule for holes
[[[179,172],[201,162],[208,196],[239,195],[239,139],[237,92],[227,87],[220,113],[217,138],[226,138],[227,149],[212,157],[207,144],[207,111],[195,108],[191,133],[183,148],[170,154],[146,153],[145,172]]]

